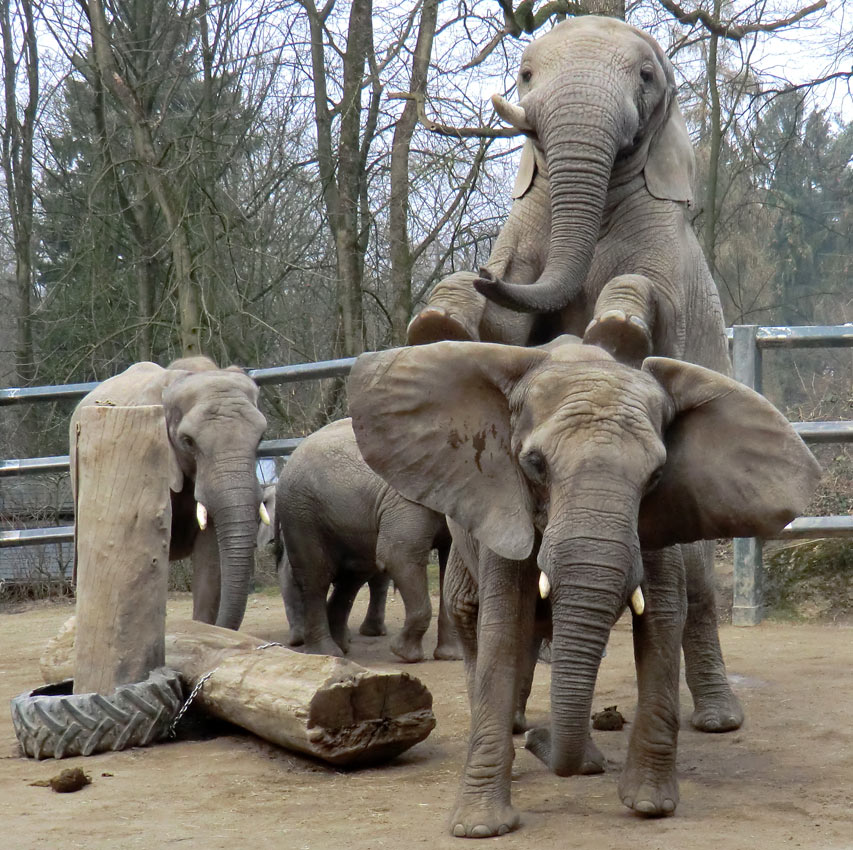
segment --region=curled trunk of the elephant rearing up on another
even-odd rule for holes
[[[623,122],[615,98],[600,82],[568,80],[524,105],[548,165],[548,259],[535,283],[476,286],[504,307],[546,313],[572,303],[589,274]]]

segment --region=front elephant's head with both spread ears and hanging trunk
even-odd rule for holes
[[[576,342],[439,342],[362,355],[349,393],[376,472],[547,577],[561,775],[580,769],[609,630],[643,583],[641,549],[770,536],[819,475],[763,397],[668,358],[635,370]]]

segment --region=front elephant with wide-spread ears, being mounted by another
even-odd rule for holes
[[[802,511],[819,468],[790,423],[717,372],[662,357],[634,369],[571,341],[365,354],[349,398],[367,463],[451,521],[446,595],[471,707],[453,834],[518,824],[512,725],[537,584],[551,603],[551,725],[528,733],[528,747],[561,776],[595,759],[593,688],[633,599],[638,707],[619,795],[639,813],[671,813],[680,544],[772,536]]]

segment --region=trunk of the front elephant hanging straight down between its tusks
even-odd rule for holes
[[[576,538],[561,541],[549,559],[554,564],[551,769],[558,776],[577,774],[583,764],[598,668],[625,606],[627,551],[617,540],[593,544]]]

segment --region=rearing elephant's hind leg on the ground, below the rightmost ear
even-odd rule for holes
[[[687,573],[687,622],[682,646],[693,697],[691,724],[700,732],[731,732],[743,723],[743,708],[726,676],[714,596],[714,543],[681,547]]]

